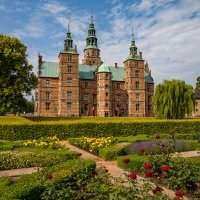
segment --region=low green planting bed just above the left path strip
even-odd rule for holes
[[[51,166],[65,160],[77,158],[68,150],[22,148],[0,152],[0,170]]]

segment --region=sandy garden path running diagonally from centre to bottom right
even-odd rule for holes
[[[124,181],[127,181],[127,177],[125,176],[126,174],[126,171],[124,171],[123,169],[119,168],[117,166],[117,163],[116,161],[105,161],[103,160],[102,158],[96,156],[96,155],[93,155],[83,149],[80,149],[72,144],[70,144],[69,142],[67,141],[62,141],[62,144],[70,149],[71,151],[74,151],[74,152],[77,152],[80,155],[81,158],[83,159],[89,159],[89,160],[93,160],[96,162],[96,166],[97,168],[104,168],[106,169],[110,175],[113,177],[113,178],[122,178],[122,180]],[[144,180],[143,177],[141,176],[138,176],[138,181],[140,181],[140,183],[142,184],[142,180]],[[152,185],[154,185],[152,182],[151,182]],[[160,186],[162,187],[163,189],[163,193],[166,194],[170,199],[174,199],[175,198],[175,193],[173,190],[169,190],[163,186]],[[187,197],[184,197],[184,200],[188,200]]]

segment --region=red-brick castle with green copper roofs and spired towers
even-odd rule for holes
[[[153,116],[154,80],[134,35],[124,66],[106,65],[100,57],[93,20],[89,23],[84,59],[68,28],[59,62],[38,58],[37,116]]]

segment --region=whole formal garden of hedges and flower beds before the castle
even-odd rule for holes
[[[0,172],[37,171],[1,177],[0,199],[170,199],[163,187],[174,191],[176,199],[198,199],[199,122],[2,116]],[[81,158],[61,141],[115,162],[128,182],[124,184],[104,168],[96,169],[95,161]],[[184,158],[182,152],[197,155]],[[144,178],[142,185],[138,177]]]

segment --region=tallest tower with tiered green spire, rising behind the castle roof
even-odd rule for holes
[[[87,65],[100,65],[100,49],[97,44],[96,30],[94,27],[93,17],[91,16],[91,21],[88,29],[88,36],[86,38],[86,47],[84,49],[84,59],[83,64]]]

